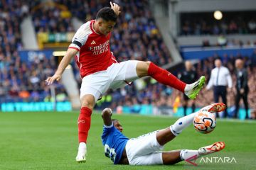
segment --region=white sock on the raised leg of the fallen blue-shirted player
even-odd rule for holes
[[[183,129],[187,128],[188,125],[193,123],[193,118],[195,117],[196,113],[191,113],[190,115],[186,115],[182,118],[179,118],[174,125],[170,126],[170,130],[174,135],[178,135],[182,132]]]

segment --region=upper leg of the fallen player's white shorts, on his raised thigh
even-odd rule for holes
[[[159,142],[156,140],[156,132],[130,139],[127,142],[125,149],[129,161],[163,149],[163,146],[159,145]]]

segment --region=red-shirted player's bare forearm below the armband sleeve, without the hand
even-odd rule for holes
[[[70,61],[73,57],[75,57],[76,53],[78,51],[77,50],[74,50],[74,49],[69,49],[65,56],[63,57],[63,59],[61,60],[59,66],[58,66],[58,69],[57,71],[55,72],[55,74],[58,74],[58,75],[61,75],[63,74],[65,68],[68,66],[68,64],[70,64]]]

